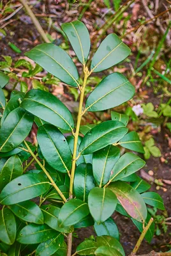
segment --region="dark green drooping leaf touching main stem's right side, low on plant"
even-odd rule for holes
[[[77,198],[87,201],[89,191],[95,187],[91,164],[79,164],[75,170],[74,193]]]

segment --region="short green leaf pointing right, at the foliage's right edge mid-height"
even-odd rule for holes
[[[142,146],[142,142],[138,136],[138,133],[135,131],[129,132],[122,138],[119,143],[124,148],[128,148],[130,150],[139,152],[144,154],[144,148]]]

